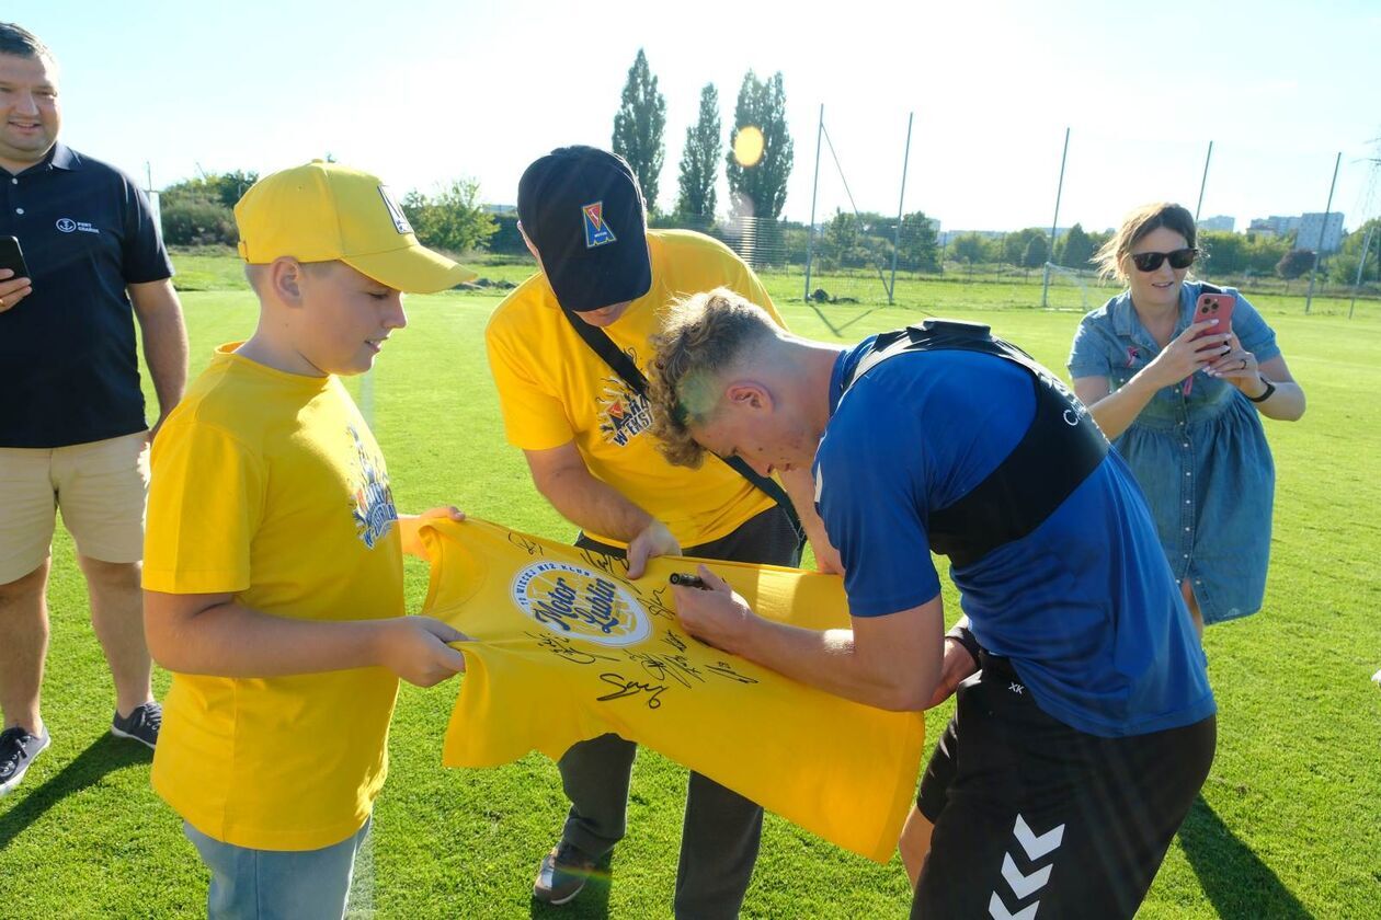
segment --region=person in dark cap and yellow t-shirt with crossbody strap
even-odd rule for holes
[[[627,560],[650,556],[795,566],[793,502],[771,479],[725,463],[668,463],[650,436],[644,372],[664,306],[728,287],[782,323],[753,270],[717,240],[648,230],[638,181],[603,150],[570,146],[528,167],[518,218],[540,272],[494,312],[485,332],[510,443],[537,490],[581,528],[576,545]],[[797,497],[820,567],[838,571],[813,512],[811,470],[778,470]],[[751,474],[751,470],[747,470]],[[769,470],[771,473],[771,470]],[[603,735],[559,761],[572,807],[533,897],[565,903],[623,837],[635,745]],[[678,917],[735,917],[757,859],[762,810],[697,774],[686,796]]]

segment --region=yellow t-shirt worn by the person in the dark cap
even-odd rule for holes
[[[782,323],[747,265],[718,240],[686,230],[650,230],[652,290],[605,332],[644,374],[649,337],[673,298],[728,287]],[[508,441],[522,450],[574,440],[590,472],[660,520],[682,546],[718,539],[772,499],[715,458],[697,470],[673,466],[648,432],[650,408],[570,327],[544,274],[499,305],[485,332]],[[594,539],[623,546],[608,534]]]

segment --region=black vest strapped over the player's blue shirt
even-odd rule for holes
[[[929,514],[931,546],[964,567],[1040,527],[1102,463],[1109,444],[1069,388],[1030,354],[976,323],[925,320],[878,335],[873,350],[844,381],[844,392],[891,357],[942,350],[1005,359],[1030,374],[1036,392],[1036,417],[1012,452],[958,501]]]

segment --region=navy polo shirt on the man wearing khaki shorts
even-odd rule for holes
[[[0,313],[0,447],[144,430],[126,286],[173,274],[144,192],[57,143],[18,175],[0,167],[0,236],[19,239],[33,279],[33,292]]]

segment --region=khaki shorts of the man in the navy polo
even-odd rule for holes
[[[148,432],[69,447],[0,447],[0,585],[47,559],[59,508],[80,554],[139,561],[148,491]]]

